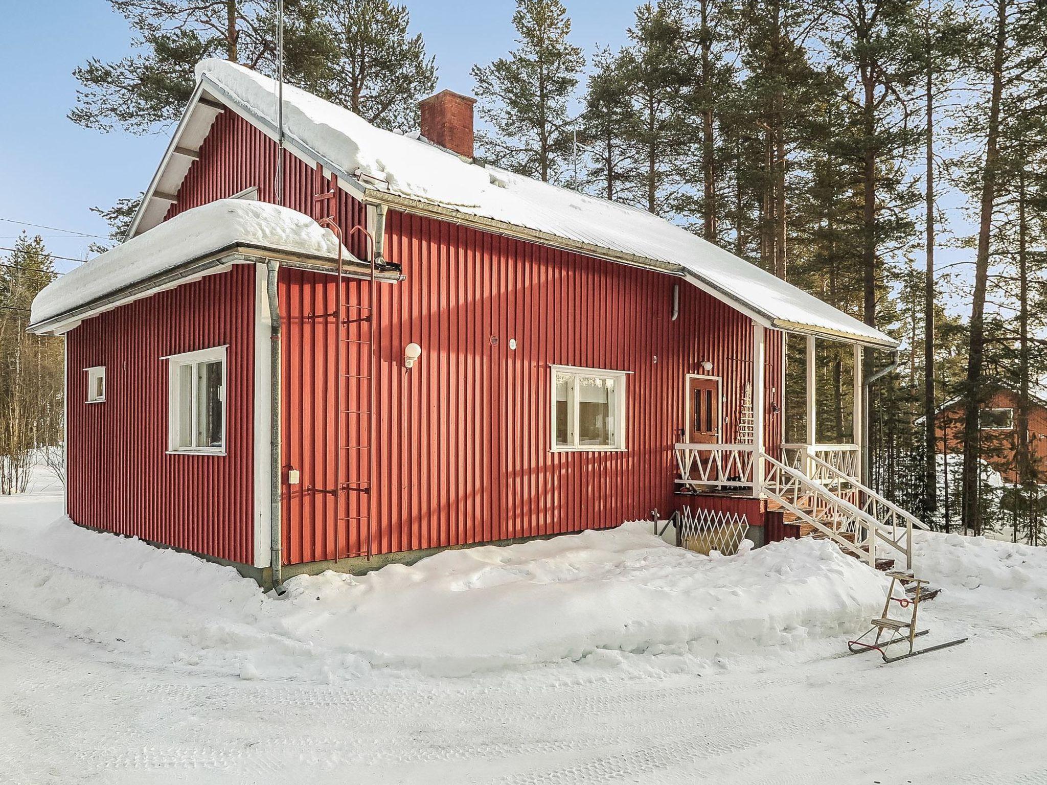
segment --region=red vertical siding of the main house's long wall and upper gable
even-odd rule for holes
[[[169,217],[258,186],[272,200],[274,144],[232,112],[218,117]],[[313,170],[287,157],[284,203],[317,215],[326,189]],[[363,222],[362,205],[339,195],[340,225]],[[358,255],[360,243],[351,248]],[[612,526],[666,513],[673,499],[672,445],[683,426],[688,373],[723,379],[726,441],[733,441],[752,379],[752,321],[687,282],[446,222],[391,211],[385,255],[405,281],[377,285],[375,450],[370,525],[334,528],[333,442],[336,336],[330,276],[284,270],[285,468],[289,563]],[[672,288],[681,313],[670,319]],[[361,304],[359,282],[346,283]],[[358,335],[356,337],[359,337]],[[516,349],[510,349],[514,339]],[[410,371],[407,343],[422,346]],[[767,333],[766,431],[781,433],[781,334]],[[550,364],[631,372],[627,450],[552,452]],[[359,368],[349,358],[349,371]],[[344,387],[347,408],[365,395]],[[770,388],[775,387],[771,394]],[[356,397],[356,398],[354,398]],[[351,444],[365,443],[343,422]],[[362,451],[360,451],[362,453]],[[359,458],[355,458],[359,459]],[[342,481],[365,477],[347,464]],[[357,496],[357,495],[354,495]],[[361,511],[350,499],[350,514]]]

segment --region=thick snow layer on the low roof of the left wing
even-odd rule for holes
[[[30,322],[39,326],[187,262],[235,247],[321,260],[338,255],[334,234],[297,210],[220,199],[185,210],[58,277],[32,300]],[[342,253],[346,260],[353,259],[344,247]]]

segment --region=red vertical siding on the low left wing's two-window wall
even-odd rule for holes
[[[168,454],[168,362],[228,344],[226,455]],[[253,563],[254,268],[238,265],[66,335],[68,512],[83,525]],[[106,367],[106,400],[85,403]]]

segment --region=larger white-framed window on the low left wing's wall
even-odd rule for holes
[[[164,357],[168,450],[225,454],[226,346]]]

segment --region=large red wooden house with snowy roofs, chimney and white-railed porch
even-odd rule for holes
[[[474,162],[470,98],[401,135],[287,87],[282,133],[272,81],[198,76],[127,241],[34,306],[65,336],[72,520],[260,580],[682,498],[757,539],[770,503],[904,547],[857,413],[854,444],[782,443],[786,333],[808,378],[816,340],[890,337],[648,212]]]

